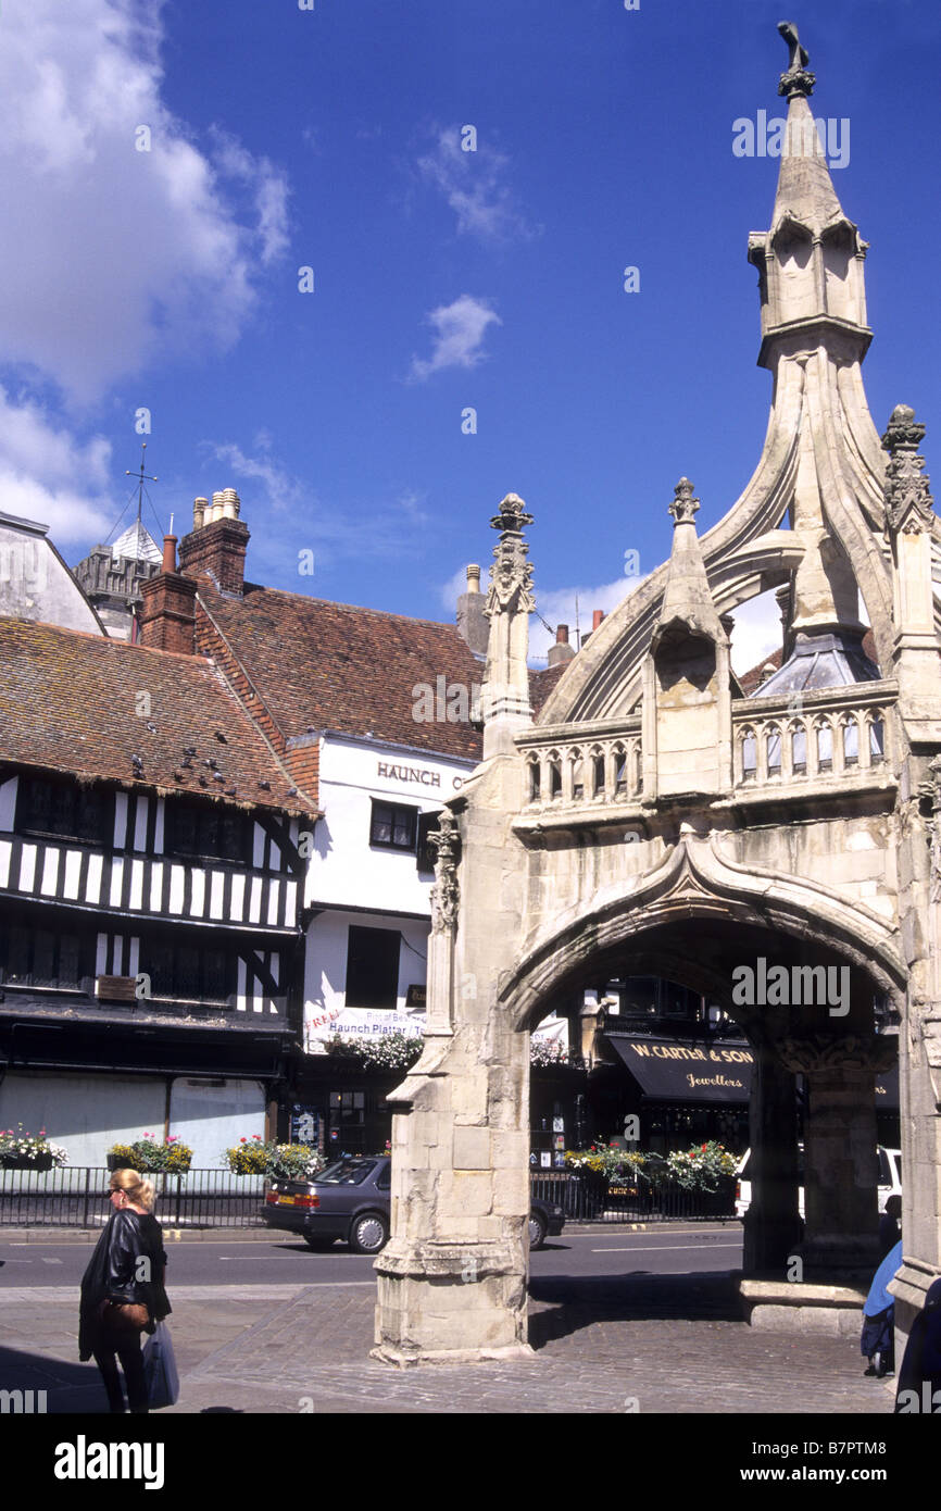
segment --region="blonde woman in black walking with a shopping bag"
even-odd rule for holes
[[[94,1357],[110,1411],[122,1413],[119,1358],[128,1407],[147,1413],[140,1337],[171,1310],[163,1289],[163,1231],[153,1215],[150,1180],[136,1170],[116,1170],[109,1185],[112,1215],[82,1277],[79,1358]]]

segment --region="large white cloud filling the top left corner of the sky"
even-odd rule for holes
[[[0,358],[80,402],[157,351],[231,346],[285,245],[282,175],[222,134],[201,150],[165,106],[160,11],[3,8]]]

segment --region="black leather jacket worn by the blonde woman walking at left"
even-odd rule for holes
[[[130,1301],[147,1307],[147,1333],[171,1312],[163,1289],[166,1250],[160,1224],[151,1213],[122,1207],[107,1227],[82,1277],[79,1357],[91,1358],[98,1342],[103,1301]]]

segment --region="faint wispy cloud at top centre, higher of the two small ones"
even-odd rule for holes
[[[503,181],[509,159],[480,139],[474,151],[464,151],[461,144],[462,128],[446,127],[438,130],[433,150],[418,159],[418,174],[444,195],[458,231],[494,242],[538,234]]]

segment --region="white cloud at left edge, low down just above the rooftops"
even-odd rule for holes
[[[103,541],[118,509],[107,496],[112,449],[80,443],[30,399],[0,388],[0,511],[50,526],[59,547]]]

